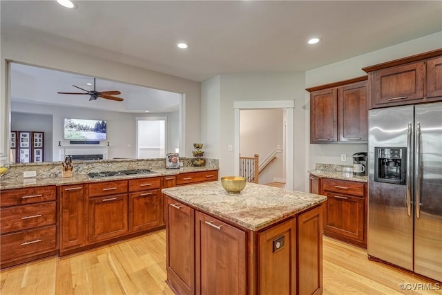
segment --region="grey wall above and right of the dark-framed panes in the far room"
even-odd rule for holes
[[[11,130],[44,132],[44,162],[52,162],[52,115],[12,113]]]

